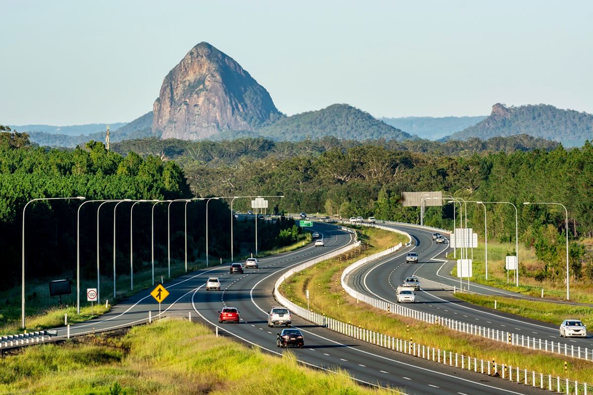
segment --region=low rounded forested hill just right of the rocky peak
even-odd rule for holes
[[[307,111],[280,118],[256,133],[272,140],[299,141],[324,136],[339,139],[407,140],[412,136],[377,120],[371,114],[347,104],[333,104],[318,111]]]

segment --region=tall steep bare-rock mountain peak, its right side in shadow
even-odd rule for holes
[[[255,130],[280,115],[269,93],[227,54],[202,42],[165,76],[152,128],[163,139],[197,140]]]

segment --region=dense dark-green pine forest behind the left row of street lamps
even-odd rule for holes
[[[47,150],[31,146],[26,133],[11,132],[0,126],[0,248],[5,280],[1,287],[20,282],[21,230],[23,208],[28,201],[43,197],[85,197],[85,201],[102,199],[173,200],[193,198],[183,170],[174,161],[155,156],[142,158],[134,152],[124,157],[108,152],[103,143],[88,142],[74,150]],[[280,191],[278,191],[280,192]],[[275,193],[278,195],[281,193]],[[205,195],[206,196],[206,195]],[[81,200],[36,201],[25,211],[25,260],[27,277],[56,277],[69,273],[76,265],[76,214]],[[80,208],[82,275],[94,277],[97,208],[99,203],[84,203]],[[133,211],[135,270],[150,261],[151,214],[153,202],[139,203]],[[120,270],[129,268],[129,235],[131,203],[117,207],[117,262]],[[171,258],[183,259],[184,201],[172,203]],[[159,264],[167,257],[168,204],[155,207],[155,259]],[[114,203],[100,211],[101,259],[109,267],[113,237]],[[227,258],[230,255],[228,203],[212,200],[209,212],[209,254]],[[187,205],[190,259],[203,259],[205,245],[205,201]],[[235,252],[253,243],[253,223],[235,221]],[[262,221],[259,226],[259,249],[275,248],[294,242],[292,220]],[[282,234],[282,230],[285,230]],[[290,232],[288,231],[290,229]],[[136,248],[136,246],[138,246]],[[248,247],[248,246],[247,246]],[[249,248],[249,247],[248,247]],[[253,249],[253,248],[251,248]],[[127,263],[126,263],[127,262]]]

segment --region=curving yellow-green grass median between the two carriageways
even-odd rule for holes
[[[375,229],[375,232],[379,230]],[[387,232],[380,230],[380,232]],[[368,240],[369,250],[374,250],[373,235]],[[434,348],[458,352],[478,359],[521,367],[530,371],[566,377],[564,359],[552,354],[533,351],[501,342],[490,341],[480,336],[455,332],[444,326],[398,317],[386,311],[374,309],[368,304],[357,303],[347,295],[340,285],[340,276],[346,266],[367,255],[366,249],[355,249],[343,255],[321,262],[311,268],[289,277],[280,287],[280,292],[293,303],[307,306],[305,293],[309,290],[311,310],[326,314],[334,319],[374,330],[400,339]],[[385,268],[387,270],[388,268]],[[593,382],[593,364],[581,359],[566,358],[568,377],[571,380]]]

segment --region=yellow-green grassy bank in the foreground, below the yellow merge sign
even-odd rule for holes
[[[129,331],[26,348],[0,359],[0,393],[381,395],[337,374],[164,319]]]

